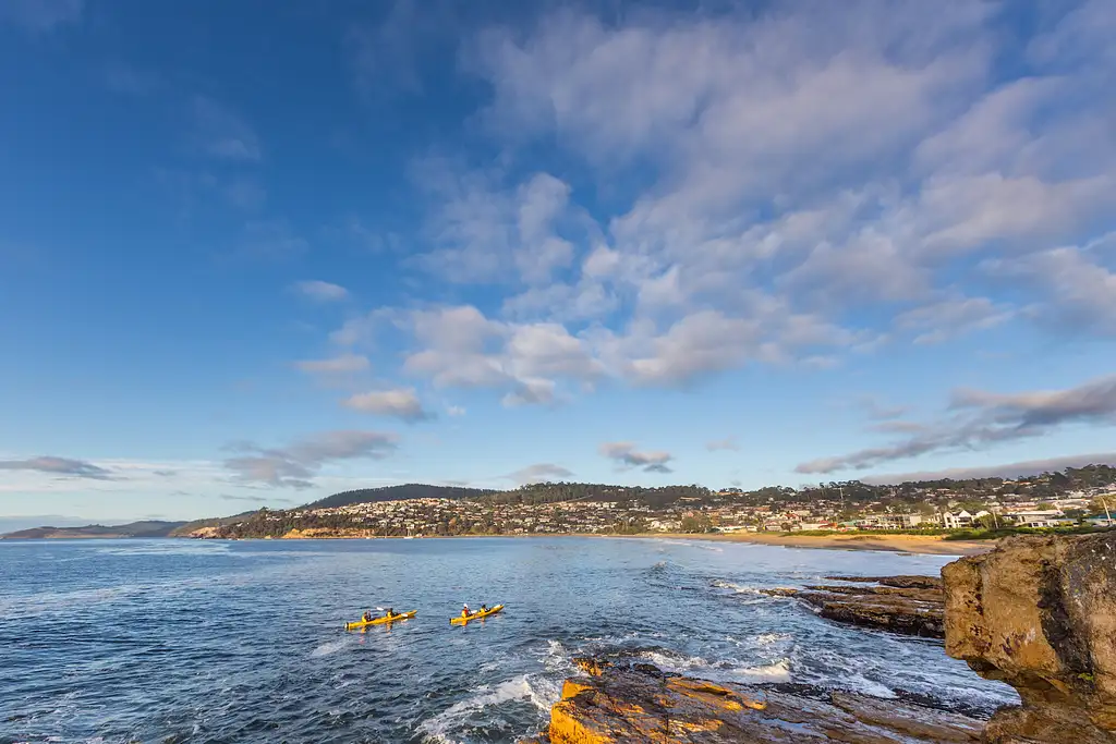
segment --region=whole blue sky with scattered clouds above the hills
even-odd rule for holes
[[[1116,462],[1116,8],[8,0],[0,516]]]

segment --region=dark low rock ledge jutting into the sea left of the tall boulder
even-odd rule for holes
[[[883,586],[815,584],[805,589],[763,589],[773,597],[793,597],[816,607],[836,622],[847,622],[927,638],[945,635],[941,580],[932,577],[826,577],[830,580]]]

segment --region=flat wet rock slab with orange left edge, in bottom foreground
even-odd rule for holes
[[[897,700],[796,686],[721,685],[647,664],[580,659],[536,744],[979,742],[981,722]]]

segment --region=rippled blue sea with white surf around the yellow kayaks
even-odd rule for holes
[[[514,742],[570,657],[946,707],[1014,702],[937,641],[760,587],[950,558],[683,540],[0,541],[0,742]],[[462,602],[503,613],[461,628]],[[367,608],[417,609],[347,632]]]

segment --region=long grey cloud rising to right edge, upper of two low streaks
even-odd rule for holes
[[[915,429],[893,444],[801,463],[798,473],[835,473],[876,467],[935,452],[984,450],[1040,437],[1071,424],[1116,424],[1116,376],[1064,390],[1018,394],[962,389],[953,394],[952,416]]]

